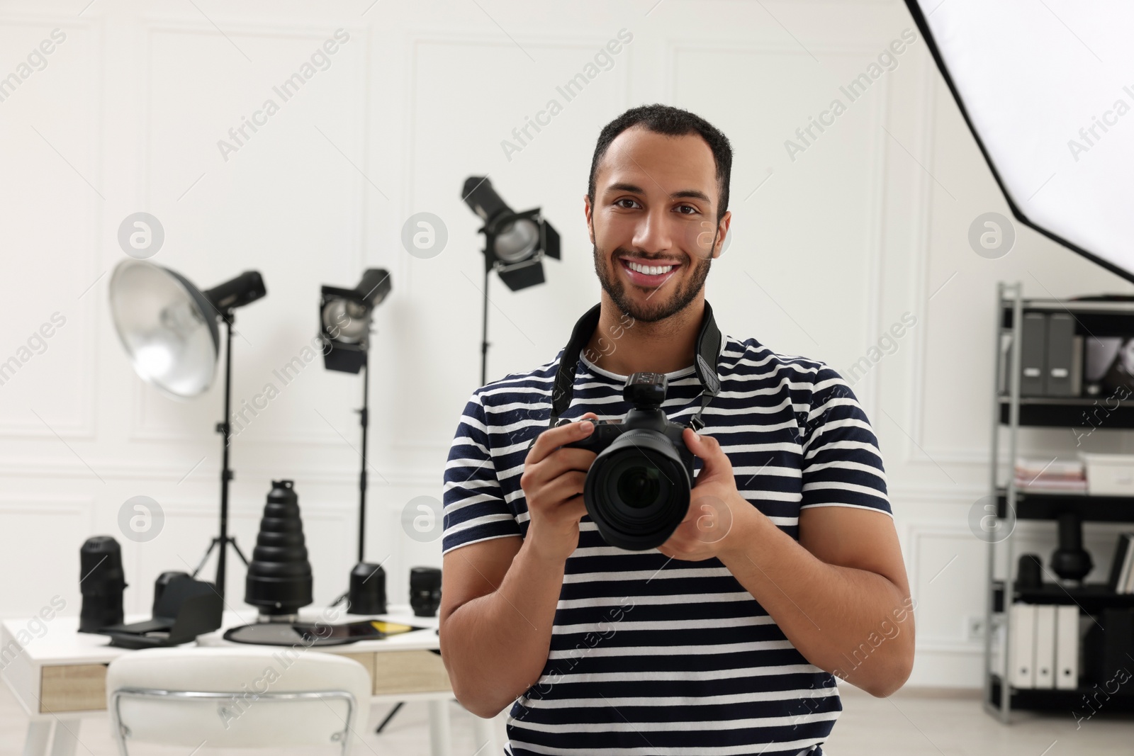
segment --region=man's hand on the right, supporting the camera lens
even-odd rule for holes
[[[737,536],[746,532],[744,526],[760,511],[736,490],[733,464],[717,439],[685,428],[682,440],[701,458],[701,472],[689,492],[689,511],[658,551],[670,559],[699,562],[733,549]]]

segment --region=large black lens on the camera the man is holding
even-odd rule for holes
[[[689,509],[689,475],[657,431],[624,432],[594,458],[583,489],[587,515],[611,546],[660,546]]]

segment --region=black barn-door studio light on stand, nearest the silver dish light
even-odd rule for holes
[[[371,316],[390,294],[390,273],[381,267],[370,267],[362,274],[362,281],[353,289],[324,286],[319,301],[319,324],[323,338],[323,365],[329,371],[344,373],[362,372],[362,409],[358,410],[358,422],[362,426],[362,470],[358,473],[358,563],[352,572],[352,589],[339,596],[350,598],[350,605],[357,609],[355,613],[375,614],[384,612],[362,611],[365,605],[374,609],[374,602],[362,601],[361,583],[354,580],[355,572],[364,572],[369,589],[373,591],[378,583],[382,584],[382,595],[386,591],[386,574],[380,564],[371,564],[365,560],[366,552],[366,428],[370,425],[370,332]],[[371,583],[373,580],[373,583]],[[375,594],[376,595],[376,594]],[[333,604],[332,604],[333,605]]]

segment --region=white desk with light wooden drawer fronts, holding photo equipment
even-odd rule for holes
[[[440,654],[441,647],[434,630],[435,617],[414,617],[409,606],[391,605],[389,614],[379,619],[425,627],[425,630],[404,632],[381,640],[358,640],[341,646],[312,646],[316,651],[342,654],[359,662],[370,672],[373,682],[371,703],[393,704],[403,700],[425,700],[430,708],[430,744],[433,756],[449,756],[450,736],[448,702],[454,699],[449,677]],[[323,611],[318,608],[301,612],[304,620],[314,621]],[[225,612],[223,627],[203,635],[196,644],[239,645],[223,639],[225,630],[246,625],[255,611]],[[128,617],[127,621],[149,619]],[[364,619],[339,614],[335,625]],[[107,716],[107,664],[132,654],[128,648],[108,645],[110,638],[78,632],[77,617],[56,617],[46,631],[20,643],[20,631],[28,628],[31,619],[5,620],[0,623],[0,663],[2,677],[28,717],[24,756],[45,756],[48,741],[54,731],[51,756],[73,756],[83,719]],[[39,629],[41,626],[35,625]],[[26,635],[25,638],[26,640]],[[287,646],[278,646],[287,648]],[[480,754],[497,754],[496,731],[492,720],[474,719],[476,742],[486,745]],[[373,727],[373,725],[372,725]],[[362,733],[359,733],[362,734]]]

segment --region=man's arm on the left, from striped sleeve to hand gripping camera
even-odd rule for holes
[[[480,417],[469,417],[463,425],[468,435],[458,431],[450,453],[449,469],[462,472],[446,491],[448,543],[459,543],[460,533],[475,532],[486,540],[446,551],[440,638],[457,700],[489,719],[538,682],[547,664],[567,557],[578,545],[578,521],[586,513],[583,482],[595,455],[560,448],[591,433],[591,423],[542,433],[521,476],[531,517],[527,535],[492,537],[509,535],[503,528],[515,523],[503,515],[507,508],[492,466],[483,464],[491,458],[476,464],[462,457],[479,449],[486,452],[483,428]],[[466,467],[473,473],[465,475]],[[493,524],[501,529],[485,533]]]

